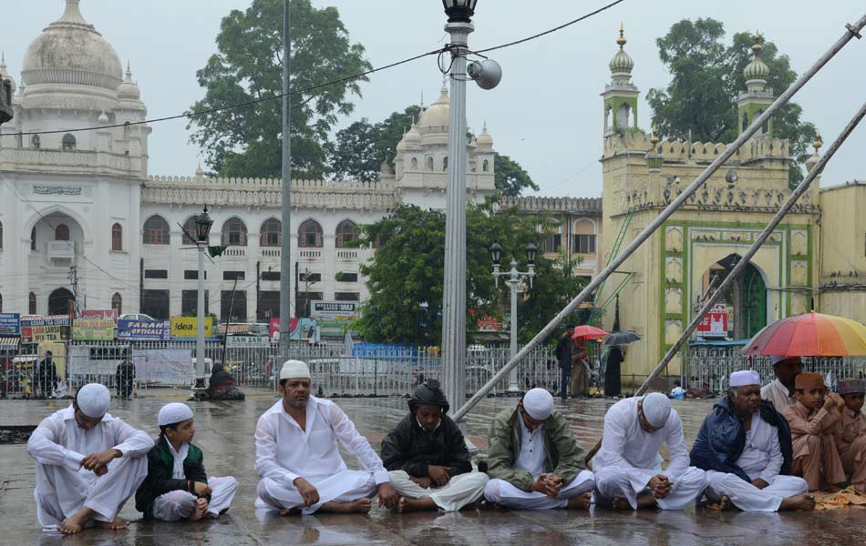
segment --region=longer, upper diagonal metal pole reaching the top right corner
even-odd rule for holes
[[[859,38],[860,31],[863,29],[864,26],[866,26],[866,15],[861,16],[861,18],[854,25],[846,25],[845,34],[842,35],[840,39],[837,40],[836,43],[833,44],[826,53],[824,53],[824,55],[820,56],[818,61],[814,65],[812,65],[809,70],[804,72],[802,76],[799,76],[799,78],[797,78],[797,81],[791,84],[791,86],[789,86],[789,88],[786,89],[784,93],[778,96],[776,101],[773,102],[773,104],[770,105],[763,114],[758,116],[758,118],[755,119],[752,125],[748,126],[747,129],[743,131],[740,136],[737,137],[737,140],[730,144],[726,148],[726,150],[719,157],[716,158],[715,161],[713,161],[708,167],[706,167],[706,169],[703,173],[700,174],[700,176],[698,176],[691,184],[688,185],[688,187],[686,187],[685,190],[683,190],[683,193],[677,196],[670,205],[665,207],[665,210],[663,210],[657,217],[655,217],[655,219],[647,227],[644,227],[644,230],[641,231],[636,238],[634,238],[631,244],[629,244],[629,246],[625,248],[616,258],[613,258],[612,262],[607,264],[607,267],[603,269],[603,271],[598,275],[598,277],[593,278],[593,280],[590,281],[586,288],[583,288],[581,293],[578,294],[576,298],[572,299],[572,301],[567,306],[565,306],[565,308],[563,308],[562,311],[560,311],[559,314],[557,314],[556,317],[554,317],[547,326],[541,329],[541,331],[536,334],[536,336],[532,338],[529,343],[523,346],[523,349],[521,349],[516,356],[510,359],[504,367],[502,367],[498,372],[496,372],[493,377],[490,378],[490,380],[485,383],[484,386],[481,387],[472,396],[472,398],[470,398],[466,402],[466,404],[463,405],[463,407],[457,410],[451,416],[452,419],[462,420],[464,417],[466,417],[466,414],[469,413],[469,410],[471,410],[476,404],[478,404],[481,399],[484,399],[484,397],[487,396],[487,393],[490,392],[490,389],[493,389],[494,385],[496,385],[500,380],[502,380],[506,375],[508,375],[510,369],[517,366],[520,361],[531,352],[532,349],[535,349],[535,347],[539,343],[541,343],[544,339],[547,339],[552,334],[553,330],[559,327],[562,321],[566,317],[568,317],[585,298],[592,294],[593,291],[598,288],[599,285],[601,285],[613,273],[616,268],[619,268],[623,264],[623,262],[634,253],[637,248],[643,245],[644,241],[650,238],[650,236],[655,233],[655,230],[661,227],[662,224],[665,223],[667,218],[671,217],[675,213],[676,209],[686,202],[686,199],[691,197],[701,186],[703,186],[706,180],[709,179],[709,177],[711,177],[713,173],[718,170],[719,167],[722,167],[722,165],[724,165],[727,160],[731,156],[733,156],[734,153],[737,152],[737,150],[742,147],[747,142],[747,140],[758,131],[758,128],[760,126],[768,122],[769,118],[776,114],[779,108],[785,106],[785,104],[788,103],[791,97],[794,96],[802,86],[805,86],[806,83],[812,78],[812,76],[815,76],[820,71],[820,69],[824,65],[826,65],[831,58],[833,58],[833,56],[840,52],[842,47],[844,47],[851,41],[852,38]]]

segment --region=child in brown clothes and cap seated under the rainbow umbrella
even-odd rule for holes
[[[838,490],[845,481],[834,431],[845,401],[827,394],[819,373],[802,372],[794,379],[794,396],[782,415],[791,428],[794,448],[792,473],[806,480],[809,491]]]

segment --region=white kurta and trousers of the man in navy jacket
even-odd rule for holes
[[[741,511],[777,511],[783,499],[802,495],[807,490],[806,480],[779,476],[784,461],[778,446],[778,430],[756,412],[752,415],[752,427],[746,433],[746,447],[736,464],[749,480],[760,478],[768,487],[761,490],[736,474],[708,470],[706,498],[718,502],[725,495]]]

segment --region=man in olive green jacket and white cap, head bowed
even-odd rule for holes
[[[587,510],[595,487],[568,421],[545,389],[531,389],[490,423],[484,497],[510,508]]]

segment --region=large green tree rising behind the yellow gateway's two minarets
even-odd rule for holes
[[[662,89],[650,89],[647,102],[653,123],[669,138],[691,135],[701,142],[731,142],[738,134],[737,95],[746,89],[743,69],[751,62],[754,36],[737,33],[731,45],[723,43],[725,29],[714,19],[684,19],[658,38],[659,58],[671,73]],[[764,42],[761,60],[769,67],[768,86],[777,93],[797,78],[788,56],[772,42]],[[774,136],[788,138],[791,157],[789,180],[796,184],[803,174],[799,164],[809,157],[815,127],[801,120],[802,108],[789,102],[773,118]]]

